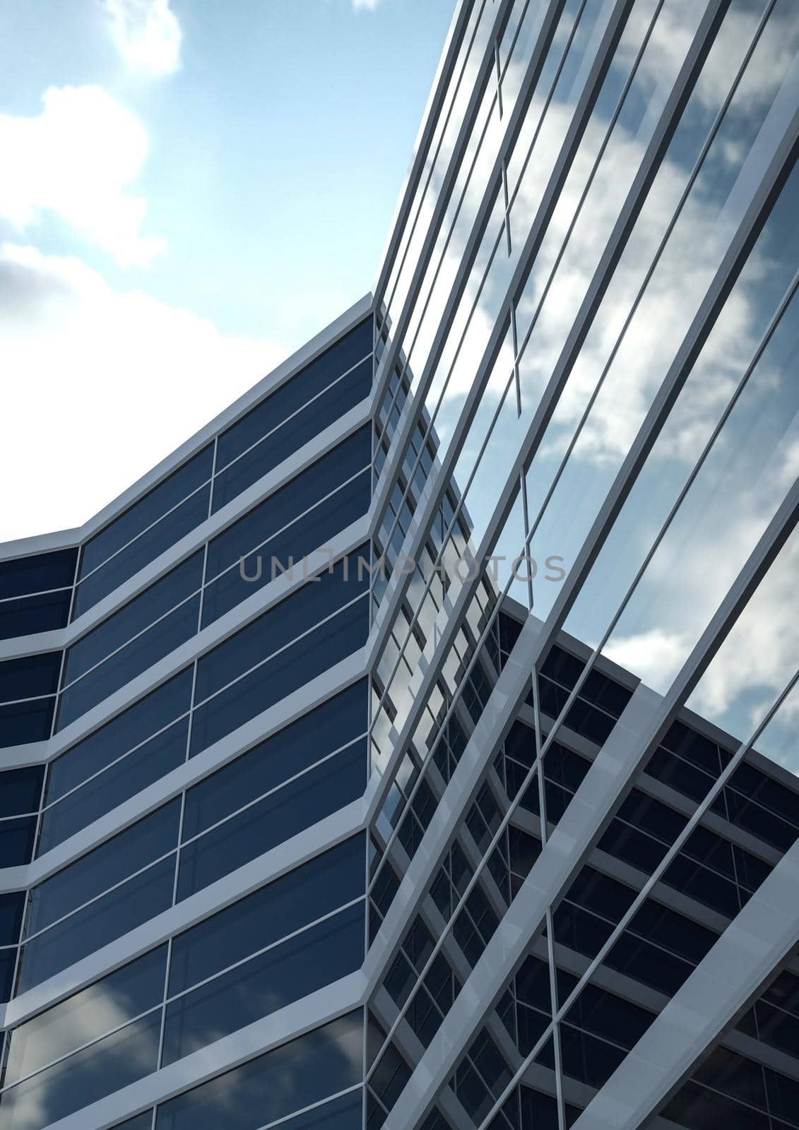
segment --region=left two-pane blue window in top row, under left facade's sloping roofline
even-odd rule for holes
[[[207,519],[212,461],[214,444],[209,444],[86,542],[73,617]]]

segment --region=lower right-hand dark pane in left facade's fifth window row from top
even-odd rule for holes
[[[166,1009],[164,1064],[353,973],[363,947],[361,903],[173,1001]]]

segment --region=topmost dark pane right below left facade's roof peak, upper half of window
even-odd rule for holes
[[[302,373],[292,377],[246,416],[223,432],[218,440],[217,470],[226,467],[232,459],[241,455],[258,440],[283,423],[298,408],[341,376],[367,354],[372,353],[372,319],[350,330],[340,341],[331,346],[315,360],[306,365]]]

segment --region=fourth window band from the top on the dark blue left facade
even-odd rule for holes
[[[173,892],[181,902],[359,799],[366,710],[362,679],[45,879],[27,899],[3,896],[6,999],[15,968],[17,992],[25,992],[167,910]]]

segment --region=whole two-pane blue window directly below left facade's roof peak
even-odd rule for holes
[[[368,318],[222,433],[215,511],[368,395],[372,337]],[[338,380],[345,373],[347,376]]]

